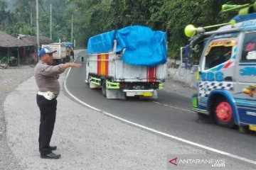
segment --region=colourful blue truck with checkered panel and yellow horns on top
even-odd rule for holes
[[[226,128],[238,126],[242,132],[256,130],[255,9],[256,2],[223,5],[222,12],[238,11],[238,16],[215,26],[185,28],[190,55],[198,42],[203,42],[193,111]],[[217,26],[217,30],[206,31]]]

